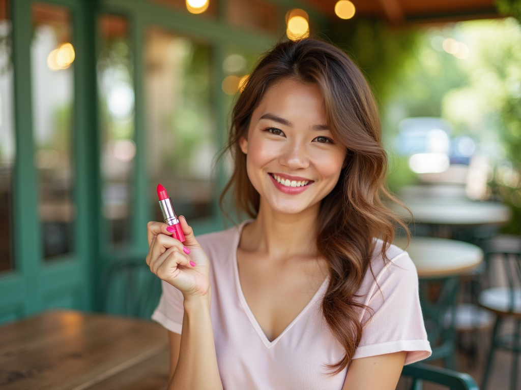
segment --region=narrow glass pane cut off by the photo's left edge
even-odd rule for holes
[[[15,131],[9,2],[0,0],[0,271],[14,268],[13,173]]]

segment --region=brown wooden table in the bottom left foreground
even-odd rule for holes
[[[0,388],[166,389],[168,337],[159,324],[70,310],[0,327]]]

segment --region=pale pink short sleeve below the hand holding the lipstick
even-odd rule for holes
[[[181,334],[183,327],[183,294],[173,285],[161,281],[163,293],[159,299],[152,319],[162,324],[166,329]]]

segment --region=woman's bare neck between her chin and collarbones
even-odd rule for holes
[[[257,218],[243,229],[240,248],[272,259],[315,256],[319,208],[317,203],[299,214],[282,214],[261,198]]]

